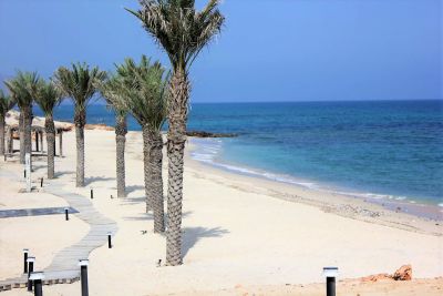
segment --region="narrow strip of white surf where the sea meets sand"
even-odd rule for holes
[[[348,200],[360,200],[364,203],[371,203],[378,205],[382,210],[390,212],[402,212],[404,214],[410,214],[413,217],[425,218],[435,222],[443,221],[443,204],[431,204],[431,203],[422,203],[419,201],[413,201],[410,198],[401,200],[401,198],[387,198],[385,196],[392,196],[388,194],[372,194],[372,193],[363,193],[363,192],[351,192],[347,188],[337,187],[337,188],[328,188],[328,186],[322,186],[321,183],[311,181],[311,180],[300,180],[299,182],[285,181],[285,175],[279,175],[278,173],[268,173],[267,171],[257,170],[248,166],[240,166],[237,164],[227,164],[217,162],[214,160],[206,161],[205,159],[198,160],[193,153],[200,149],[202,144],[198,142],[205,139],[196,139],[189,137],[189,151],[188,159],[193,162],[196,162],[205,167],[210,167],[214,170],[218,170],[219,172],[224,172],[227,174],[233,174],[234,176],[245,176],[250,177],[251,180],[260,180],[267,181],[271,184],[281,184],[285,187],[295,187],[298,191],[315,191],[324,195],[340,196],[346,197]],[[257,172],[260,171],[260,172]],[[267,176],[270,175],[270,176]],[[276,176],[276,177],[271,177]],[[279,176],[282,176],[281,180],[278,180]],[[288,176],[292,177],[292,176]],[[306,185],[305,185],[306,183]],[[310,186],[308,184],[318,184],[318,187]],[[374,197],[371,197],[374,196]],[[381,196],[381,197],[380,197]],[[321,202],[321,201],[320,201]]]

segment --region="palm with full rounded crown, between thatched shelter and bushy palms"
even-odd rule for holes
[[[76,140],[76,186],[84,187],[84,125],[86,124],[86,106],[96,92],[96,82],[106,78],[106,72],[85,63],[72,64],[72,69],[59,68],[53,76],[56,88],[63,95],[72,99]]]

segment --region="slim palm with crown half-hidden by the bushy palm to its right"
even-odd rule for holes
[[[115,113],[115,145],[116,145],[116,176],[117,176],[117,197],[126,196],[126,177],[125,177],[125,143],[127,134],[127,111],[119,104],[114,96],[121,95],[124,92],[122,85],[116,78],[110,78],[105,82],[99,84],[99,90],[102,96],[106,100],[107,105]]]

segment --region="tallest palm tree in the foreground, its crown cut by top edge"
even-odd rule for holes
[[[222,29],[225,18],[218,3],[219,0],[209,0],[197,11],[195,0],[140,0],[140,10],[128,10],[165,50],[173,67],[167,134],[167,265],[182,264],[183,159],[190,92],[188,71],[202,49]]]

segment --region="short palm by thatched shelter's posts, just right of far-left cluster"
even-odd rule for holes
[[[35,95],[35,102],[44,113],[44,130],[48,143],[48,178],[54,178],[55,124],[54,108],[61,103],[62,94],[53,82],[41,80]]]

